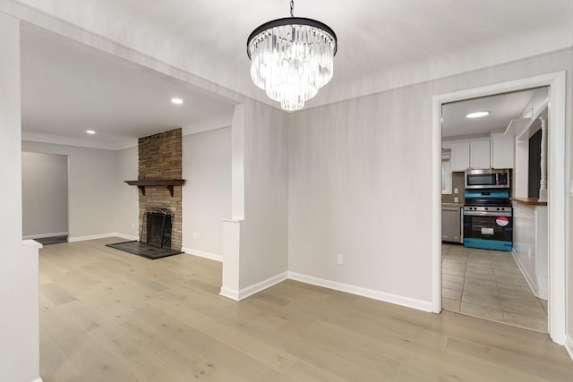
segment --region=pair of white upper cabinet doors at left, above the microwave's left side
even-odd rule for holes
[[[471,140],[451,144],[451,171],[490,168],[490,140]]]

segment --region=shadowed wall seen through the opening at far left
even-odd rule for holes
[[[21,153],[24,239],[68,233],[68,157]]]

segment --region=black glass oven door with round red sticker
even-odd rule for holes
[[[464,216],[464,237],[511,242],[511,217]]]

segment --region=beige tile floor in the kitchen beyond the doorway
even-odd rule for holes
[[[531,292],[511,253],[441,247],[442,308],[547,333],[547,301]]]

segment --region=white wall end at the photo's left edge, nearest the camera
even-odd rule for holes
[[[0,380],[39,377],[38,250],[21,241],[20,22],[0,13]]]

